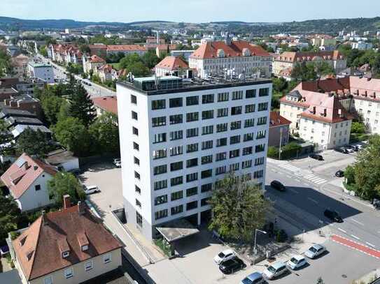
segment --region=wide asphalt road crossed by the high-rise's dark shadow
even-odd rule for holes
[[[281,165],[279,163],[282,162],[267,163],[266,194],[271,200],[274,200],[274,207],[277,211],[292,218],[300,230],[321,229],[324,233],[337,234],[380,251],[380,213],[367,203],[342,194],[342,190],[336,186],[339,184],[339,178],[334,176],[335,170],[342,168],[342,163],[338,163],[336,160],[331,162],[337,164],[336,168],[331,166],[330,174],[323,170],[323,174],[320,175],[313,170],[313,167],[321,166],[314,165],[314,160],[308,161],[308,159],[305,158],[296,163],[284,162]],[[309,167],[308,165],[314,166]],[[326,167],[328,167],[328,163],[326,163]],[[287,187],[285,193],[268,186],[274,179],[281,181]],[[323,216],[325,209],[334,209],[339,212],[344,218],[344,222],[332,223]],[[291,279],[296,278],[287,276],[278,283],[314,283],[315,277],[318,277],[315,269],[321,274],[319,276],[322,276],[325,283],[349,283],[349,281],[369,273],[372,269],[380,267],[377,258],[366,255],[362,251],[355,251],[330,240],[325,245],[330,247],[329,254],[328,257],[321,257],[321,260],[329,260],[330,265],[322,262],[318,268],[313,264],[313,269],[304,269],[304,277],[300,281],[292,282]],[[340,270],[335,269],[337,266]],[[353,271],[355,271],[355,275],[353,275]],[[312,280],[312,282],[307,282],[307,280]]]

